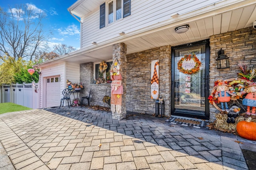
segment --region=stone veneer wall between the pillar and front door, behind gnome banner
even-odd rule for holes
[[[165,102],[165,115],[170,115],[171,47],[140,51],[127,55],[126,109],[138,113],[155,113],[151,99],[151,61],[159,59],[159,94]]]

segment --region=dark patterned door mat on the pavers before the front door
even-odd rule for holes
[[[193,127],[206,127],[207,121],[201,120],[201,119],[188,119],[188,118],[178,118],[178,117],[170,117],[170,119],[167,120],[168,122],[172,124],[181,124],[185,126],[193,126]]]

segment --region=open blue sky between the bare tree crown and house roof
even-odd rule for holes
[[[50,47],[66,44],[80,49],[80,23],[69,14],[68,8],[77,0],[3,0],[0,3],[4,11],[15,7],[15,4],[31,4],[46,13],[43,25],[45,30],[52,31],[48,39]],[[50,31],[47,31],[50,33]]]

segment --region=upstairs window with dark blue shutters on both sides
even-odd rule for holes
[[[131,0],[110,0],[100,5],[100,28],[131,14]]]

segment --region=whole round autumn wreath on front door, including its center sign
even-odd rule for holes
[[[184,55],[178,62],[178,70],[184,74],[194,74],[200,70],[201,62],[196,55]]]

